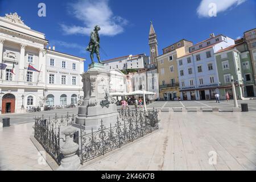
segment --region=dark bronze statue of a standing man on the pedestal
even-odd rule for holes
[[[92,64],[94,63],[93,60],[93,54],[96,53],[98,63],[104,64],[101,62],[100,57],[100,36],[98,35],[98,31],[100,31],[100,26],[95,26],[94,30],[90,33],[90,42],[88,47],[86,48],[86,51],[90,52],[90,59],[92,60]]]

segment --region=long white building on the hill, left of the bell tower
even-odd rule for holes
[[[150,64],[150,58],[145,54],[129,55],[117,57],[114,59],[104,61],[106,70],[112,69],[126,70],[126,69],[142,69]]]

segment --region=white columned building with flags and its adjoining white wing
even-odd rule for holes
[[[76,104],[83,97],[85,59],[47,49],[47,44],[45,35],[16,13],[0,17],[0,114]],[[29,65],[35,69],[28,70]]]

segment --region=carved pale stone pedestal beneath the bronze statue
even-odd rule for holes
[[[75,127],[97,130],[101,119],[106,127],[117,122],[117,105],[109,95],[110,72],[103,64],[90,64],[88,72],[82,75],[84,100],[79,106]]]

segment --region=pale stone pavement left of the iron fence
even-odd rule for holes
[[[0,128],[0,171],[51,170],[47,163],[38,163],[39,151],[30,140],[32,125],[26,123]]]

